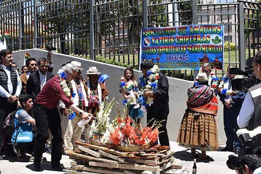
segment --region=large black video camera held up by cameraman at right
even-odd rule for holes
[[[253,69],[242,71],[238,68],[230,68],[229,73],[243,75],[243,78],[231,80],[231,86],[233,91],[247,90],[248,88],[253,87],[257,83],[257,78]]]

